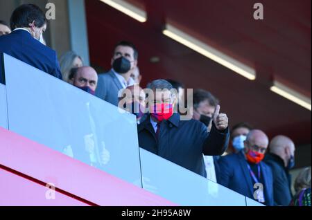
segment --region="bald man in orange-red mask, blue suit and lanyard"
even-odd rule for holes
[[[272,171],[262,161],[268,143],[263,131],[251,130],[241,152],[218,161],[217,182],[264,205],[274,205]]]

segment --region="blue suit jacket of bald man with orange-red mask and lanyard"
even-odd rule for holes
[[[259,163],[263,178],[263,194],[265,205],[274,205],[272,171],[264,162]],[[243,151],[223,156],[218,160],[217,182],[239,194],[254,199],[254,182],[248,169]]]

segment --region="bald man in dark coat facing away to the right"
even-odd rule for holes
[[[273,173],[274,203],[288,206],[292,199],[289,169],[295,165],[295,144],[291,138],[279,135],[270,141],[269,150],[264,161]]]

